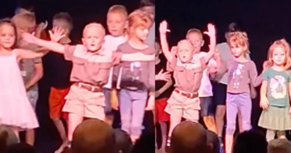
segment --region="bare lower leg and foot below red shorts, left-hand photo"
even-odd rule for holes
[[[62,153],[65,149],[65,147],[67,147],[67,145],[69,144],[69,141],[66,137],[65,134],[65,126],[64,123],[62,122],[61,119],[53,119],[53,123],[55,124],[56,128],[58,129],[58,132],[63,140],[63,144],[60,146],[60,148],[58,150],[55,151],[55,153]]]

